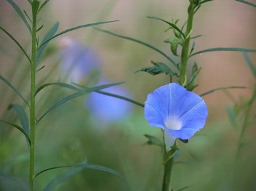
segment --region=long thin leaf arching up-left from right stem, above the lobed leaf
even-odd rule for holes
[[[126,36],[123,36],[123,35],[119,35],[117,33],[113,33],[112,31],[107,31],[107,30],[103,30],[103,29],[99,29],[99,28],[95,28],[96,30],[98,31],[102,31],[104,33],[108,33],[109,35],[113,35],[113,36],[116,36],[116,37],[120,37],[122,39],[127,39],[129,41],[133,41],[133,42],[136,42],[136,43],[139,43],[139,44],[142,44],[144,46],[147,46],[148,48],[151,48],[153,50],[156,50],[156,52],[160,53],[162,56],[164,56],[165,58],[167,58],[167,60],[171,61],[171,63],[173,63],[173,65],[177,68],[177,63],[175,63],[175,61],[173,61],[171,58],[169,58],[169,56],[167,56],[167,54],[165,54],[164,52],[161,52],[161,50],[159,50],[158,48],[156,48],[155,46],[151,45],[151,44],[148,44],[148,43],[144,43],[143,41],[140,41],[140,40],[137,40],[137,39],[133,39],[131,37],[126,37]]]

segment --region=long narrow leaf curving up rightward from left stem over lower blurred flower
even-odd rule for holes
[[[68,101],[71,101],[79,96],[83,96],[85,94],[89,94],[90,92],[95,92],[97,90],[102,90],[104,88],[109,88],[111,86],[117,86],[119,84],[122,84],[123,82],[119,82],[119,83],[114,83],[114,84],[105,84],[102,86],[96,86],[94,88],[86,88],[85,90],[79,90],[79,92],[75,92],[74,94],[71,94],[70,96],[64,97],[64,99],[60,99],[60,101],[56,102],[52,107],[50,107],[47,111],[45,111],[44,114],[42,114],[42,116],[37,120],[37,123],[39,123],[39,121],[46,116],[48,113],[50,113],[51,111],[53,111],[53,109],[55,109],[56,107],[62,105],[63,103],[66,103]],[[60,83],[61,84],[61,83]],[[50,85],[58,85],[58,83],[53,83]]]

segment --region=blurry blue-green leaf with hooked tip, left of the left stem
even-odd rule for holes
[[[18,118],[20,120],[20,124],[24,131],[28,135],[30,135],[30,124],[28,121],[28,115],[26,114],[26,111],[23,109],[23,107],[19,104],[11,104],[9,105],[9,109],[13,108],[16,113],[18,114]]]

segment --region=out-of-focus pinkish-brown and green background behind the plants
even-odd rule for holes
[[[16,3],[30,14],[27,1]],[[169,44],[163,43],[173,35],[171,30],[165,32],[168,28],[166,24],[146,16],[157,16],[169,21],[179,19],[178,26],[181,27],[186,21],[187,7],[188,1],[173,0],[50,1],[41,12],[39,26],[43,24],[43,29],[39,32],[39,40],[43,39],[57,21],[60,22],[59,32],[82,24],[119,20],[98,27],[140,39],[171,55]],[[202,35],[194,40],[195,51],[215,47],[255,49],[255,23],[255,9],[248,5],[232,0],[205,3],[194,18],[193,36]],[[30,54],[30,34],[6,1],[0,1],[0,26],[16,37]],[[0,41],[0,75],[28,97],[29,63],[3,31],[0,32]],[[71,46],[72,43],[77,49]],[[255,63],[256,55],[248,55]],[[81,67],[76,59],[86,62],[87,58],[93,58],[89,59],[91,62],[88,62],[88,67],[91,63],[96,67],[90,69],[90,74],[86,73],[84,77],[83,73],[79,74],[81,78],[75,79],[77,83],[96,84],[97,80],[91,80],[95,77],[106,79],[105,82],[125,81],[120,89],[111,91],[116,94],[123,92],[121,94],[141,103],[144,103],[149,93],[169,82],[165,75],[153,77],[147,73],[135,74],[142,67],[150,66],[152,60],[170,64],[163,56],[141,44],[87,27],[51,41],[39,63],[39,68],[45,67],[37,73],[37,85],[74,81],[71,72],[73,68],[66,69],[64,73],[63,65],[77,63],[74,71],[78,72]],[[179,61],[179,57],[172,58]],[[203,97],[209,108],[207,123],[188,144],[179,143],[179,161],[184,163],[174,166],[172,186],[177,190],[185,186],[189,186],[187,190],[254,190],[255,109],[244,137],[247,145],[242,150],[242,165],[236,169],[236,150],[241,126],[238,124],[237,128],[232,127],[226,107],[234,105],[234,99],[236,102],[246,101],[252,94],[255,79],[242,52],[198,54],[190,60],[191,67],[195,61],[202,67],[198,78],[199,86],[194,90],[197,94],[225,86],[249,88],[219,91]],[[63,88],[45,88],[37,99],[37,116],[41,116],[56,101],[70,93]],[[3,82],[0,82],[0,100],[0,118],[18,123],[14,111],[7,108],[10,103],[22,104],[22,101]],[[148,140],[144,134],[156,135],[161,139],[161,131],[147,124],[143,109],[137,105],[120,103],[123,110],[114,109],[117,113],[123,113],[118,117],[119,120],[103,120],[97,115],[99,112],[96,110],[94,113],[92,108],[108,108],[105,113],[109,113],[112,107],[103,103],[92,106],[88,104],[94,103],[91,100],[90,95],[79,97],[58,107],[39,123],[36,130],[36,171],[54,165],[80,163],[86,159],[90,164],[119,171],[128,181],[109,173],[85,169],[56,187],[56,190],[159,190],[162,178],[161,150],[156,146],[146,145]],[[111,101],[112,104],[116,103]],[[28,148],[24,137],[17,130],[12,130],[12,127],[0,124],[0,173],[7,173],[15,180],[18,178],[17,184],[23,184],[28,174],[27,167]],[[42,190],[47,182],[63,171],[54,170],[40,175],[36,179],[37,188]],[[9,184],[6,179],[0,177],[2,190],[11,189],[6,186]],[[12,182],[12,179],[9,181]]]

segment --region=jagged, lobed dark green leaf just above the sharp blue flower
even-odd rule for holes
[[[139,71],[147,72],[150,75],[159,75],[161,73],[165,73],[166,75],[177,76],[177,73],[171,71],[171,69],[165,63],[154,62],[154,61],[152,61],[152,63],[154,64],[154,66],[143,67]],[[139,71],[136,71],[135,73],[138,73]]]

